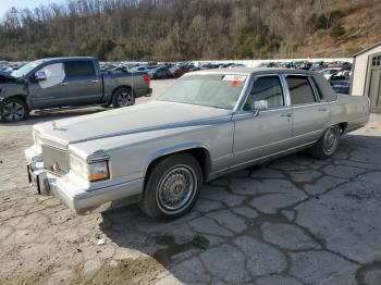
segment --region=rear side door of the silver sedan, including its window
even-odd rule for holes
[[[320,98],[308,75],[285,75],[290,104],[293,108],[293,140],[312,142],[322,135],[330,121],[330,106]]]

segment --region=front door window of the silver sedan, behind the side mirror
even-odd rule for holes
[[[282,85],[278,76],[259,77],[251,86],[244,110],[253,110],[254,102],[266,100],[268,108],[284,106]]]

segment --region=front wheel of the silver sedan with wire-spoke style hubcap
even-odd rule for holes
[[[175,219],[195,206],[202,185],[197,160],[173,154],[152,165],[140,200],[140,209],[153,219]]]

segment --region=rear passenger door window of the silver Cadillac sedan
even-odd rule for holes
[[[314,90],[307,76],[290,75],[286,77],[291,104],[306,104],[316,102]]]

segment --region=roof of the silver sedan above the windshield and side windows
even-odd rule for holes
[[[315,74],[312,71],[296,70],[296,69],[280,69],[280,67],[233,67],[219,70],[202,70],[192,72],[190,74]],[[187,73],[188,74],[188,73]]]

